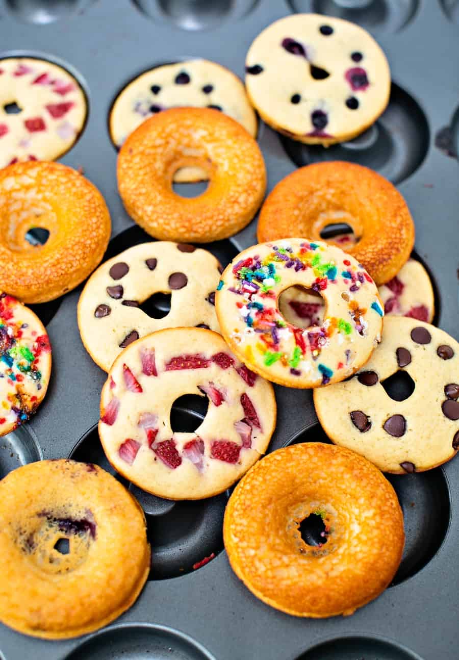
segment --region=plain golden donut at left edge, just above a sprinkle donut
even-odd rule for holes
[[[43,246],[27,232],[49,231]],[[78,286],[106,251],[111,223],[98,189],[72,168],[28,162],[0,170],[0,288],[47,302]]]

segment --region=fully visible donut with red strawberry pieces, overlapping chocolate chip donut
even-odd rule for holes
[[[175,399],[207,396],[194,433],[171,429]],[[223,492],[266,451],[276,424],[272,385],[200,328],[147,335],[115,360],[102,389],[99,434],[126,479],[170,500]]]

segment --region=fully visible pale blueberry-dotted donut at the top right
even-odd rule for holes
[[[260,117],[311,145],[359,135],[389,100],[384,53],[363,28],[340,18],[292,14],[276,20],[249,48],[245,71]]]

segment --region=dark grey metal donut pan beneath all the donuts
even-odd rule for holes
[[[329,149],[290,141],[261,122],[268,189],[298,166],[319,160],[365,164],[392,180],[415,220],[415,253],[433,277],[435,323],[458,339],[458,0],[0,0],[0,57],[49,59],[82,84],[88,121],[61,160],[82,168],[106,198],[111,257],[149,240],[117,195],[117,153],[107,118],[119,91],[143,71],[189,57],[214,60],[243,77],[253,38],[273,20],[303,11],[341,16],[370,30],[388,57],[392,94],[371,129]],[[204,186],[179,184],[175,190],[195,195]],[[226,265],[256,242],[255,230],[256,220],[209,249]],[[71,456],[109,468],[96,430],[105,374],[80,341],[80,290],[35,306],[51,337],[53,376],[38,414],[0,438],[0,478],[42,457]],[[168,311],[166,296],[150,305],[152,315]],[[199,424],[206,405],[198,398],[177,400],[174,430]],[[268,451],[326,442],[310,391],[276,387],[276,398],[278,425]],[[35,640],[0,624],[0,658],[456,660],[459,458],[390,481],[404,510],[404,558],[394,585],[351,617],[297,619],[245,589],[222,542],[229,492],[173,503],[126,484],[144,507],[153,548],[151,579],[137,603],[108,628],[66,642]],[[202,562],[206,557],[211,560]]]

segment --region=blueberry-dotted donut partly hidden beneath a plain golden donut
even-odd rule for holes
[[[109,119],[113,143],[121,147],[147,117],[178,106],[220,110],[253,137],[257,135],[257,118],[239,78],[216,62],[190,59],[150,69],[123,89]],[[173,180],[186,183],[207,178],[205,170],[185,167],[175,172]]]

